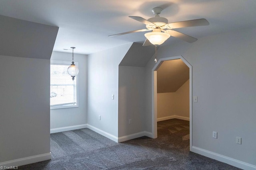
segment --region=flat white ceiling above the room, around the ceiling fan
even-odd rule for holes
[[[143,43],[144,33],[108,35],[144,29],[128,16],[154,17],[154,7],[170,22],[205,18],[210,25],[176,29],[200,38],[256,27],[256,0],[0,0],[0,15],[60,27],[54,51],[76,47],[91,54],[131,42]],[[163,45],[181,41],[170,37]]]

